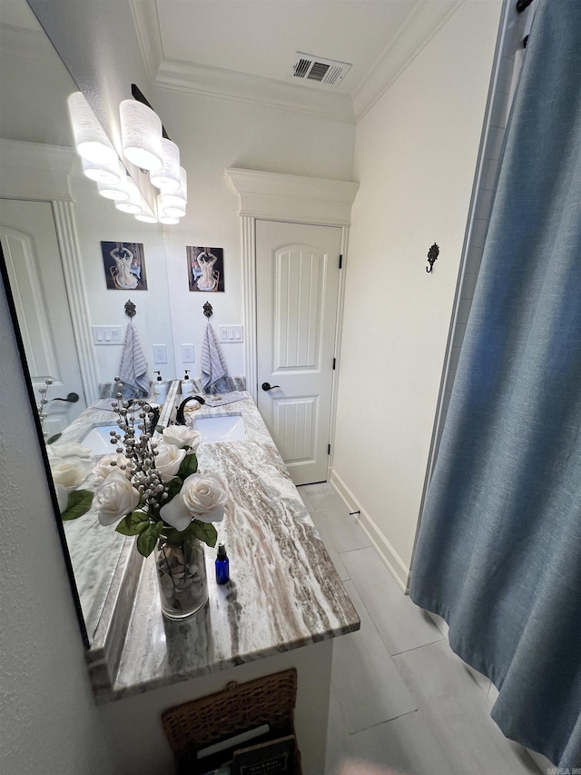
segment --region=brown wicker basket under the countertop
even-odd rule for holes
[[[205,771],[195,760],[197,750],[261,724],[269,724],[275,737],[294,735],[296,698],[297,671],[292,668],[246,683],[231,681],[223,691],[166,710],[162,724],[176,772],[196,775]],[[302,775],[298,748],[295,762],[294,775]]]

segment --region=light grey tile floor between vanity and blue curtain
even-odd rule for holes
[[[539,775],[490,719],[494,686],[400,591],[330,484],[299,492],[361,619],[333,648],[325,775],[349,756],[406,775]]]

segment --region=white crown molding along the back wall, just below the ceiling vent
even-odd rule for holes
[[[219,67],[164,60],[157,71],[155,85],[233,102],[308,113],[347,124],[354,123],[349,94],[308,89],[285,84],[274,78],[236,73]]]

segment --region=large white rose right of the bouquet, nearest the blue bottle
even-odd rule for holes
[[[162,506],[162,520],[182,531],[192,522],[222,522],[228,503],[228,490],[213,473],[192,473],[182,490]]]

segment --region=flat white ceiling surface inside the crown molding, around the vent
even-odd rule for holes
[[[353,94],[416,0],[157,0],[164,59],[292,80],[295,52],[352,64]],[[294,79],[295,84],[321,88]]]

